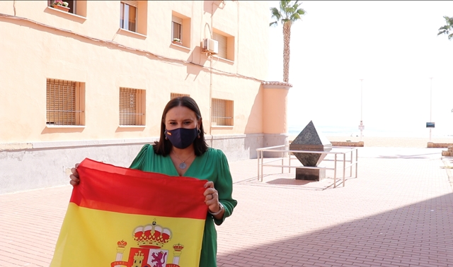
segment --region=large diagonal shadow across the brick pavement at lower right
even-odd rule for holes
[[[453,194],[236,250],[217,261],[222,267],[453,266]]]

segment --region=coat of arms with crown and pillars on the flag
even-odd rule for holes
[[[168,249],[163,249],[171,240],[170,229],[157,225],[154,220],[149,225],[135,227],[132,237],[138,247],[131,247],[128,261],[123,261],[127,242],[118,241],[116,259],[110,263],[111,267],[181,267],[179,258],[184,246],[173,245],[173,263],[168,263]]]

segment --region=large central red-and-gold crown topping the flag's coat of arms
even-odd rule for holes
[[[171,230],[153,221],[150,225],[136,227],[132,233],[139,247],[160,249],[171,239]]]

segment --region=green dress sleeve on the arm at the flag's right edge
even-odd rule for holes
[[[217,160],[217,181],[214,183],[215,189],[219,192],[219,201],[225,208],[224,216],[221,220],[214,218],[216,225],[222,225],[225,218],[229,217],[233,213],[234,207],[237,205],[237,201],[233,199],[233,179],[231,178],[231,172],[229,170],[228,160],[226,160],[225,154],[222,150],[216,150],[218,155]]]

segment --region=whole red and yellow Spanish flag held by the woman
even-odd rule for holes
[[[85,159],[50,267],[198,266],[205,180]]]

